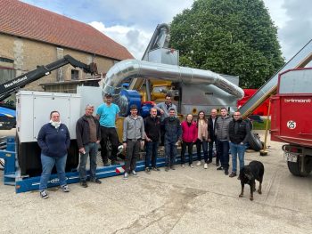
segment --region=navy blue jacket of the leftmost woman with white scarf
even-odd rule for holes
[[[50,123],[41,127],[37,142],[41,152],[49,157],[62,157],[70,148],[70,132],[66,125],[61,124],[59,128]]]

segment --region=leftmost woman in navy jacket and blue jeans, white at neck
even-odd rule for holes
[[[49,198],[45,190],[54,165],[60,180],[61,190],[69,192],[70,189],[66,183],[65,165],[67,149],[70,148],[70,132],[67,126],[61,123],[58,111],[53,110],[50,113],[50,122],[41,127],[37,142],[41,148],[42,173],[39,185],[41,198]]]

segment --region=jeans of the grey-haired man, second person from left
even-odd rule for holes
[[[86,154],[80,153],[80,163],[79,163],[79,177],[80,181],[86,182],[86,161],[87,156],[90,157],[90,180],[94,180],[96,173],[96,155],[99,146],[96,142],[88,143],[84,146]]]

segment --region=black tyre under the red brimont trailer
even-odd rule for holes
[[[301,172],[301,161],[304,160],[304,168],[303,172]],[[287,162],[289,171],[296,176],[306,177],[312,171],[312,157],[305,156],[305,157],[298,157],[296,163]]]

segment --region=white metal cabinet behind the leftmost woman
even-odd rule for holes
[[[76,122],[81,117],[80,95],[20,91],[16,99],[16,129],[20,142],[37,141],[40,128],[50,121],[53,110],[60,112],[62,123],[70,130],[70,139],[76,139]]]

